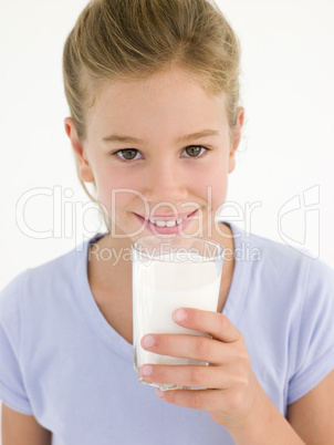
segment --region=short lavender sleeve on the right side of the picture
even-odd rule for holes
[[[310,392],[334,369],[334,271],[320,260],[309,260],[288,404]]]

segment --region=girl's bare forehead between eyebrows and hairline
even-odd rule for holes
[[[182,70],[144,80],[104,82],[87,114],[87,131],[142,134],[227,125],[226,96],[209,94]]]

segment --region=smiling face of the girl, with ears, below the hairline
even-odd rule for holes
[[[143,81],[105,83],[88,111],[84,142],[70,117],[65,127],[82,179],[95,180],[108,211],[112,238],[134,240],[170,231],[210,237],[242,122],[240,108],[232,143],[225,95],[208,95],[174,69]],[[145,220],[174,221],[190,214],[170,228]]]

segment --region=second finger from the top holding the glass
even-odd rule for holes
[[[143,337],[140,344],[155,354],[200,360],[211,364],[234,361],[242,352],[239,349],[236,351],[230,343],[190,334],[147,334]]]

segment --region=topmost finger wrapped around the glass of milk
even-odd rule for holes
[[[173,319],[184,328],[207,332],[212,335],[213,339],[226,343],[238,341],[242,337],[234,324],[219,312],[182,308],[173,312]]]

